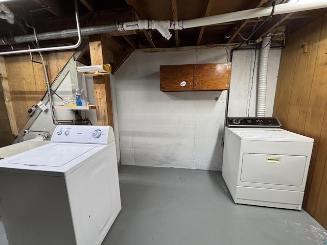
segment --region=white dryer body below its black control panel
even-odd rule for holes
[[[283,129],[226,127],[222,176],[234,202],[300,210],[312,147]]]

